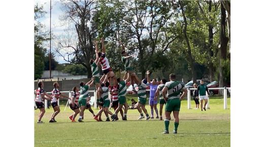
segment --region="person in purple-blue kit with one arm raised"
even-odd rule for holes
[[[150,86],[150,94],[149,94],[149,105],[150,105],[150,109],[151,109],[151,119],[154,119],[154,113],[153,113],[153,107],[155,109],[155,112],[156,112],[156,119],[158,119],[158,109],[157,109],[157,98],[155,97],[155,93],[156,93],[156,90],[157,90],[157,81],[156,79],[153,79],[152,82],[150,81],[150,72],[149,70],[147,70],[147,81],[149,83],[149,86]]]

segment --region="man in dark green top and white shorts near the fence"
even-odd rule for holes
[[[208,97],[206,96],[206,92],[209,94],[209,90],[207,88],[206,85],[204,85],[204,81],[201,80],[201,85],[199,85],[197,87],[197,90],[196,90],[196,95],[199,94],[199,99],[201,101],[201,111],[203,111],[203,101],[205,100],[205,105],[204,105],[204,110],[206,111],[206,104],[207,104],[207,100],[208,100]]]

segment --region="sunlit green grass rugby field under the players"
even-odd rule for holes
[[[127,99],[130,98],[131,95]],[[35,110],[35,146],[230,146],[230,98],[227,102],[228,109],[224,110],[222,97],[210,97],[210,109],[201,112],[200,109],[187,109],[187,100],[183,100],[176,135],[173,134],[174,119],[170,121],[170,134],[161,134],[164,121],[138,121],[137,109],[128,110],[128,121],[96,122],[86,110],[84,123],[72,123],[68,117],[73,111],[70,108],[64,111],[61,102],[57,123],[48,123],[52,107],[46,110],[44,124],[37,124],[40,111]],[[194,105],[192,100],[192,108]],[[150,106],[146,107],[150,114]],[[93,110],[95,114],[98,111]],[[102,119],[105,120],[104,114]]]

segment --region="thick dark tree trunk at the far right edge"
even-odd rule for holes
[[[219,87],[223,87],[224,81],[223,81],[223,62],[226,59],[226,53],[227,53],[227,43],[228,38],[225,36],[225,9],[223,7],[223,4],[221,3],[221,21],[220,21],[220,64],[219,64]],[[219,91],[219,93],[222,95],[222,90]]]

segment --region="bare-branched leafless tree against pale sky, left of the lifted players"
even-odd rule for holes
[[[63,59],[72,64],[81,64],[87,70],[87,77],[91,77],[90,59],[94,55],[93,40],[96,34],[96,25],[94,24],[95,1],[62,1],[62,11],[64,16],[62,20],[70,22],[75,27],[77,41],[72,43],[71,38],[60,38],[58,42],[57,53]],[[63,54],[63,52],[67,51]],[[73,60],[69,57],[73,56]]]

